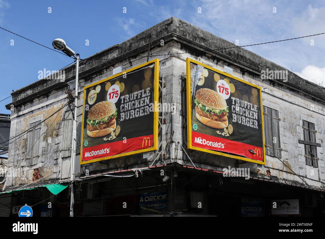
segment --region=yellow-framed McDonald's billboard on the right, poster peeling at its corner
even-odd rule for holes
[[[265,165],[259,86],[186,59],[188,148]]]

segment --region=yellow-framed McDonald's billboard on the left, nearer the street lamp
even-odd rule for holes
[[[80,164],[158,149],[159,60],[86,86]]]

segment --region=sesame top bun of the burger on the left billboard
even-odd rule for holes
[[[111,101],[101,101],[95,104],[88,112],[90,120],[100,120],[106,118],[116,111],[116,106]]]

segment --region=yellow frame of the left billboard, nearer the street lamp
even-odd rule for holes
[[[98,84],[105,82],[105,81],[109,81],[113,78],[119,77],[121,75],[123,75],[124,73],[129,73],[132,71],[135,71],[139,68],[142,68],[144,66],[150,65],[154,63],[154,79],[153,79],[153,91],[154,91],[154,96],[153,96],[153,100],[154,100],[154,113],[153,113],[153,146],[147,149],[140,149],[140,150],[136,150],[136,151],[131,151],[131,152],[127,152],[127,153],[120,153],[120,154],[116,154],[116,155],[112,155],[112,156],[108,156],[108,157],[103,157],[103,158],[98,158],[98,159],[91,159],[91,160],[87,160],[87,161],[82,161],[82,150],[83,150],[83,136],[84,136],[84,114],[85,114],[85,92],[86,89],[92,86],[97,86]],[[136,67],[133,67],[129,70],[123,71],[121,73],[117,73],[115,75],[112,75],[108,78],[105,78],[103,80],[100,80],[96,83],[90,84],[88,86],[84,87],[84,101],[83,101],[83,113],[82,113],[82,128],[81,128],[81,145],[80,145],[80,165],[83,164],[89,164],[89,163],[94,163],[94,162],[98,162],[98,161],[103,161],[103,160],[108,160],[108,159],[113,159],[113,158],[120,158],[120,157],[124,157],[124,156],[128,156],[128,155],[134,155],[134,154],[138,154],[138,153],[144,153],[144,152],[148,152],[148,151],[155,151],[158,150],[158,81],[159,81],[159,59],[154,59],[154,60],[150,60],[146,63],[143,63],[141,65],[138,65]]]

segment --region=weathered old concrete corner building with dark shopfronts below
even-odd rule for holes
[[[175,114],[164,112],[162,116],[162,147],[159,150],[162,153],[150,152],[148,158],[137,154],[82,166],[77,160],[76,179],[79,180],[74,182],[75,215],[161,215],[164,212],[240,216],[248,201],[257,201],[251,205],[263,205],[258,216],[269,216],[272,200],[299,199],[301,215],[324,216],[325,88],[176,18],[169,18],[80,61],[77,158],[80,157],[83,87],[111,76],[116,67],[121,66],[124,71],[146,62],[149,35],[155,36],[151,38],[149,60],[159,58],[160,61],[161,99],[176,106]],[[182,147],[186,149],[184,85],[187,58],[221,71],[224,66],[231,67],[235,77],[262,88],[264,117],[269,117],[265,130],[271,134],[266,133],[265,166],[209,153],[183,151]],[[6,106],[12,113],[6,191],[69,183],[72,113],[68,106],[61,108],[68,101],[65,89],[74,90],[75,65],[64,70],[64,82],[42,79],[12,93],[12,103]],[[284,71],[288,75],[286,80],[265,79],[261,77],[263,71]],[[31,127],[33,130],[28,131]],[[248,169],[250,180],[222,177],[223,168],[229,166]],[[141,168],[139,177],[105,176],[134,174],[131,169]],[[161,169],[165,170],[163,176]],[[88,175],[92,177],[86,177]],[[163,181],[165,175],[170,179]],[[53,196],[45,190],[38,194],[33,191],[24,192],[25,199],[21,198],[22,192],[12,193],[11,207],[24,205],[26,200],[34,205]],[[157,210],[151,211],[139,206],[145,193],[158,195],[157,191],[159,195],[167,195],[168,202],[162,202],[166,205],[159,209],[156,205]],[[55,205],[54,215],[68,216],[68,190],[60,194],[48,201]],[[85,201],[87,204],[83,203]],[[123,202],[132,206],[125,208]],[[158,204],[157,200],[154,202]],[[197,202],[202,206],[198,208]],[[55,211],[56,208],[60,210]]]

